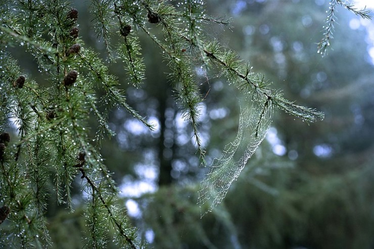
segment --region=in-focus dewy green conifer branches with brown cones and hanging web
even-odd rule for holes
[[[369,18],[366,10],[332,0],[319,43],[322,54],[332,38],[337,5]],[[222,201],[264,139],[274,110],[307,122],[323,119],[321,112],[296,105],[272,89],[265,76],[253,72],[249,63],[218,40],[208,40],[205,34],[210,25],[229,29],[230,22],[205,13],[204,1],[91,0],[89,10],[105,44],[106,61],[84,44],[79,36],[79,13],[65,0],[4,0],[0,9],[0,243],[7,248],[51,246],[47,202],[54,193],[58,204],[74,212],[71,193],[77,176],[87,196],[85,247],[105,248],[108,240],[119,248],[146,246],[136,239],[136,229],[117,204],[118,188],[99,152],[101,140],[115,135],[108,124],[115,108],[126,109],[146,127],[154,128],[127,103],[120,88],[125,83],[142,87],[146,68],[141,37],[154,42],[170,68],[176,101],[193,129],[203,166],[205,149],[198,119],[204,96],[195,68],[201,67],[208,75],[218,72],[244,95],[237,137],[202,182],[199,204],[203,214]],[[120,42],[113,42],[114,38]],[[47,83],[27,75],[10,47],[21,47],[31,55]],[[126,79],[110,73],[116,61],[123,62]],[[104,92],[100,99],[99,92]],[[99,123],[95,137],[89,135],[96,128],[88,122],[91,117]],[[17,134],[10,133],[12,122]],[[208,200],[213,202],[206,204]]]

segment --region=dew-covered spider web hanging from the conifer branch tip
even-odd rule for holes
[[[209,173],[201,182],[198,201],[201,217],[222,202],[231,183],[238,178],[248,159],[265,138],[272,118],[270,99],[262,106],[250,102],[241,108],[236,138],[224,147],[220,158],[214,159]],[[207,210],[203,207],[208,206],[205,204],[209,205]]]

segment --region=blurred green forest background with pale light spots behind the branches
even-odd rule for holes
[[[147,79],[142,88],[126,84],[120,63],[111,69],[123,79],[129,103],[157,129],[150,132],[125,110],[115,110],[110,121],[117,135],[102,147],[139,237],[154,248],[373,248],[370,23],[340,8],[332,47],[321,58],[316,43],[328,1],[206,2],[208,14],[232,16],[234,27],[208,26],[208,39],[218,38],[237,51],[275,89],[323,111],[325,120],[307,124],[276,112],[267,139],[223,203],[201,219],[197,191],[208,169],[199,166],[192,131],[175,104],[160,51],[144,39]],[[88,3],[73,6],[82,39],[104,56],[103,42],[91,31]],[[43,82],[32,58],[19,61]],[[197,68],[196,73],[206,96],[200,130],[209,164],[236,135],[238,91],[214,71],[205,75]],[[51,202],[49,228],[56,248],[82,247],[81,194],[75,194],[75,213]]]

